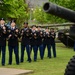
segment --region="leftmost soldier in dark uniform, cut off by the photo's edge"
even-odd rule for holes
[[[5,65],[6,37],[7,37],[7,27],[5,25],[4,18],[1,18],[0,19],[0,52],[2,52],[2,66]]]

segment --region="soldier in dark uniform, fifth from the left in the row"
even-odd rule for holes
[[[41,26],[38,26],[38,48],[40,50],[40,58],[43,59],[43,31]]]

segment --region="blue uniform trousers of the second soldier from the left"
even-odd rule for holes
[[[19,64],[19,50],[18,46],[8,46],[9,47],[9,64],[12,64],[12,52],[14,49],[16,64]]]

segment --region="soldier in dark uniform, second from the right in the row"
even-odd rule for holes
[[[43,57],[44,57],[44,52],[45,52],[46,46],[47,46],[47,50],[48,50],[48,57],[51,58],[51,51],[50,51],[50,31],[49,31],[48,27],[46,28],[46,30],[44,32]]]

